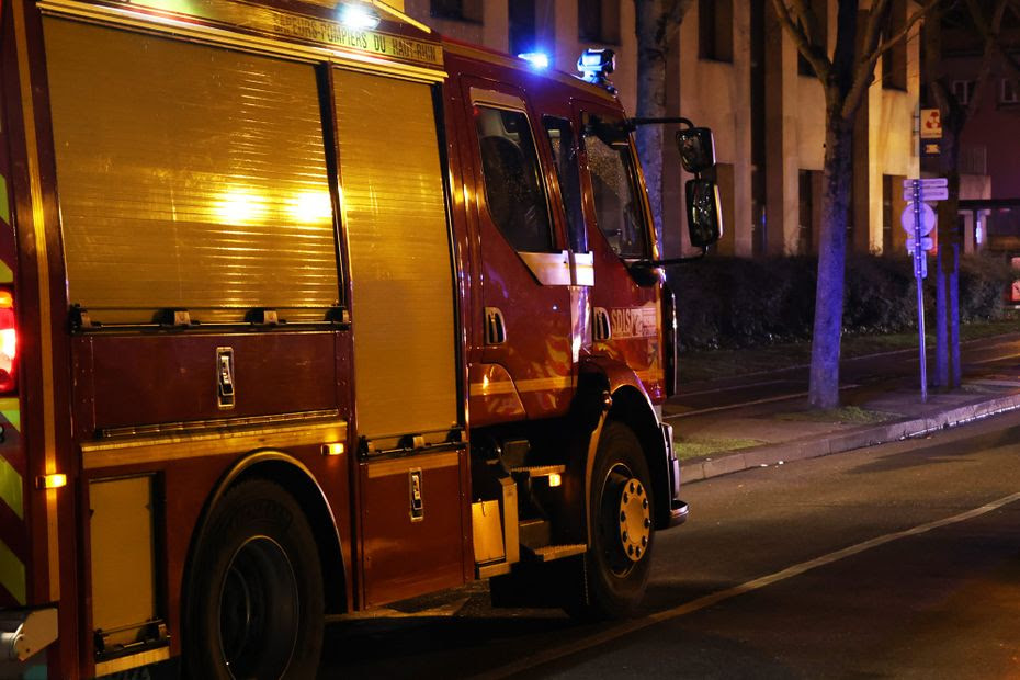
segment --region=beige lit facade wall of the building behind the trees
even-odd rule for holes
[[[512,0],[510,0],[512,1]],[[409,15],[434,26],[440,33],[494,49],[508,46],[508,0],[483,1],[480,23],[437,20],[430,16],[428,0],[405,0]],[[752,254],[751,225],[751,2],[764,2],[766,9],[766,185],[767,185],[767,252],[794,253],[798,247],[798,172],[820,170],[825,152],[825,100],[821,84],[814,77],[797,73],[797,52],[792,38],[775,21],[770,0],[733,0],[733,61],[713,61],[699,57],[698,2],[684,18],[675,49],[667,59],[672,73],[667,100],[680,115],[715,131],[718,161],[726,163],[727,184],[732,194],[725,196],[727,216],[725,247],[721,252],[750,257]],[[910,4],[910,11],[916,9]],[[828,46],[831,54],[836,42],[837,0],[828,0]],[[576,72],[577,57],[587,48],[578,38],[577,0],[539,0],[536,16],[539,32],[553,56],[555,68]],[[634,33],[634,3],[620,0],[620,44],[604,45],[616,50],[617,71],[613,76],[620,99],[627,111],[636,103],[637,60]],[[917,138],[914,133],[915,111],[918,101],[918,39],[915,35],[907,46],[906,91],[883,89],[879,78],[862,104],[866,117],[866,141],[862,143],[861,167],[857,185],[866,194],[859,196],[861,219],[865,223],[859,234],[857,247],[861,250],[882,249],[882,178],[884,174],[917,177]],[[602,45],[598,45],[602,46]],[[881,76],[881,63],[876,69]],[[671,135],[667,135],[671,144]],[[1020,136],[1013,158],[1020,156]],[[666,207],[668,254],[678,250],[676,231],[681,228],[683,213],[682,180],[689,179],[679,169],[664,168],[667,191]],[[1020,166],[1013,170],[1020,186]],[[730,180],[732,178],[732,180]],[[817,182],[816,182],[817,185]],[[1020,191],[1018,191],[1020,193]],[[820,194],[814,196],[820,204]],[[816,209],[816,213],[818,211]],[[815,225],[817,229],[817,225]],[[683,238],[685,241],[685,237]],[[817,243],[817,239],[815,239]]]

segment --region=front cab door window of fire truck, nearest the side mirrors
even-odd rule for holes
[[[625,259],[648,257],[648,234],[642,219],[631,146],[623,140],[585,136],[588,172],[599,230]]]

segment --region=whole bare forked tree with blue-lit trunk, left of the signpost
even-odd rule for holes
[[[892,0],[872,0],[861,10],[860,0],[838,0],[836,49],[816,42],[818,16],[806,0],[772,0],[780,23],[811,64],[825,91],[825,161],[823,167],[821,229],[815,322],[812,333],[808,401],[815,408],[839,406],[839,350],[843,313],[847,256],[847,219],[852,180],[853,122],[874,80],[882,54],[906,39],[914,24],[938,0],[927,0],[904,26],[884,35]],[[863,34],[859,38],[859,31]]]

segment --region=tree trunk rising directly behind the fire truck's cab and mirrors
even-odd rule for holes
[[[694,0],[634,0],[637,34],[637,111],[638,117],[666,115],[666,56],[669,44],[680,30],[683,15]],[[662,237],[662,145],[661,125],[643,125],[637,129],[637,152],[645,171],[648,200],[659,242]]]

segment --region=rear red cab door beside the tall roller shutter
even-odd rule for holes
[[[464,78],[481,252],[483,379],[472,399],[515,393],[529,419],[559,416],[573,396],[570,253],[549,208],[536,140],[541,127],[523,94]],[[478,408],[473,412],[492,413]],[[484,424],[473,418],[473,424]]]

